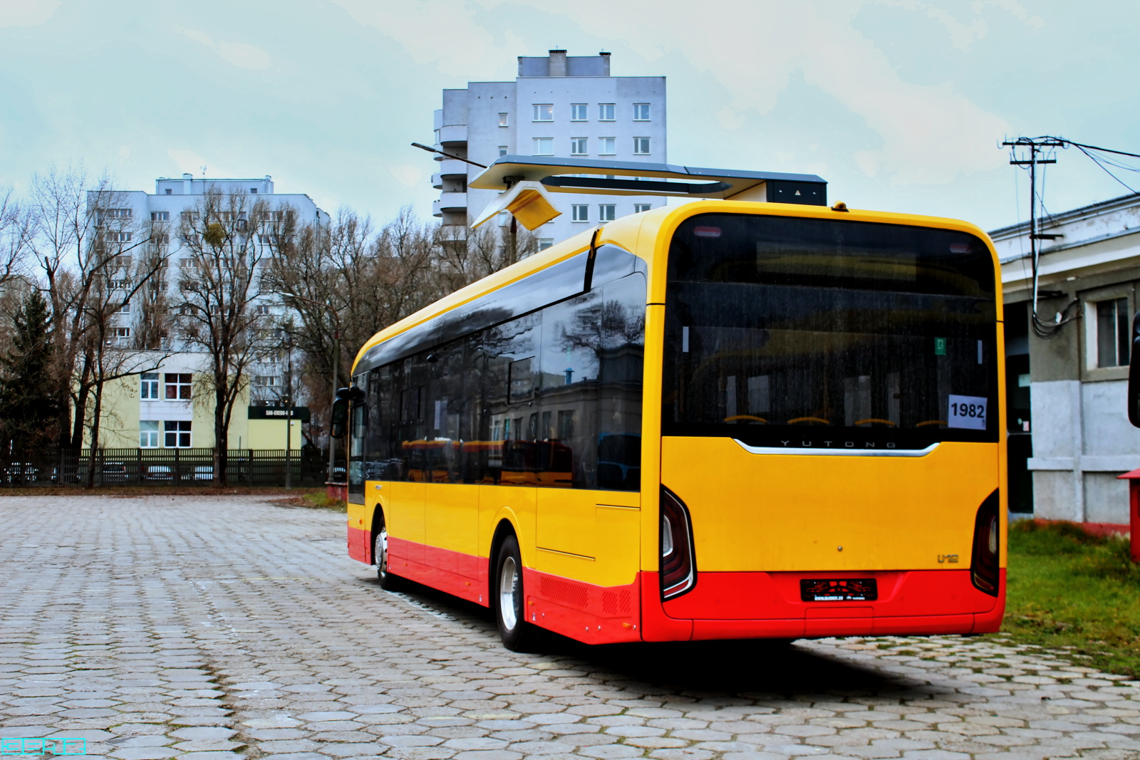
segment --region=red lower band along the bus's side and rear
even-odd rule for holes
[[[370,531],[349,528],[349,556],[372,562]],[[488,606],[488,561],[402,539],[389,539],[392,572],[469,602]],[[873,602],[803,602],[799,581],[874,578]],[[862,573],[698,574],[689,594],[661,603],[656,572],[629,586],[601,587],[523,569],[527,618],[542,628],[587,644],[726,638],[801,638],[999,630],[1005,607],[970,582],[969,570]]]

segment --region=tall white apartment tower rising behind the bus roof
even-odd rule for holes
[[[443,90],[435,112],[435,146],[480,164],[499,156],[557,156],[667,163],[663,76],[611,76],[610,54],[519,57],[512,82],[469,82]],[[467,189],[478,166],[437,155],[432,187],[440,190],[432,213],[443,224],[465,227],[495,190]],[[585,228],[665,205],[662,197],[560,193],[562,212],[535,230],[539,247]],[[508,223],[507,215],[499,224]]]

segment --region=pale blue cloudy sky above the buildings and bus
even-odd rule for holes
[[[667,77],[669,163],[816,173],[832,202],[988,230],[1028,216],[1003,138],[1140,153],[1138,26],[1121,0],[0,0],[0,187],[81,163],[154,193],[205,167],[430,218],[435,164],[408,144],[433,141],[440,91],[562,48]],[[1130,193],[1057,160],[1051,213]]]

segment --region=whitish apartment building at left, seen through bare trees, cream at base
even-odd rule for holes
[[[217,189],[223,194],[246,194],[250,202],[264,198],[271,210],[293,209],[298,214],[298,226],[315,224],[327,228],[328,214],[317,207],[308,195],[276,193],[272,178],[268,174],[259,179],[195,179],[192,174],[182,174],[181,179],[158,178],[155,181],[154,194],[145,190],[128,190],[114,194],[114,209],[100,210],[103,219],[114,221],[116,243],[127,251],[136,244],[132,239],[140,236],[145,239],[152,230],[152,223],[169,223],[169,232],[162,242],[148,245],[161,245],[168,254],[166,271],[169,276],[161,281],[169,288],[169,302],[177,304],[179,300],[179,273],[182,260],[189,255],[184,250],[177,234],[184,212],[193,212],[201,203],[207,189]],[[98,205],[96,191],[88,194],[90,203]],[[106,199],[101,201],[106,203]],[[105,230],[106,235],[107,231]],[[256,235],[251,230],[251,235]],[[256,238],[254,238],[256,240]],[[137,248],[136,259],[144,253]],[[129,262],[127,263],[129,267]],[[121,273],[111,272],[115,277],[127,277],[129,270]],[[135,345],[133,330],[137,329],[138,309],[128,304],[116,314],[112,340],[124,346]],[[260,294],[254,309],[263,314],[280,316],[285,307],[280,295],[276,293]],[[166,356],[155,371],[130,376],[108,387],[105,400],[106,415],[101,422],[101,446],[106,448],[212,448],[213,447],[213,406],[211,399],[196,399],[195,375],[205,369],[205,354],[185,350],[180,346],[177,335],[171,336],[166,348],[172,351]],[[284,390],[283,357],[277,360],[255,365],[250,373],[249,404],[272,406],[282,398]],[[307,411],[304,412],[308,414]],[[230,448],[247,449],[284,449],[285,420],[267,419],[258,415],[251,419],[246,403],[235,406],[234,419],[230,425]],[[300,448],[303,440],[298,422],[288,435],[291,448]]]

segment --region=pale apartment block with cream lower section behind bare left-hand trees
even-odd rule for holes
[[[270,219],[278,219],[285,209],[292,209],[298,223],[327,228],[328,214],[317,207],[303,194],[276,193],[272,178],[261,179],[195,179],[182,174],[181,179],[160,178],[155,193],[144,190],[117,191],[114,194],[89,194],[89,203],[98,207],[96,230],[103,240],[116,246],[123,253],[117,255],[108,271],[112,291],[130,287],[132,268],[144,255],[157,252],[164,258],[161,270],[154,276],[155,287],[166,295],[165,308],[174,310],[179,303],[179,280],[193,265],[189,250],[180,237],[180,221],[186,214],[196,213],[202,196],[207,190],[225,195],[246,196],[246,205],[264,199],[270,209]],[[229,213],[229,212],[225,212]],[[234,220],[238,230],[244,229],[244,220]],[[264,256],[259,265],[268,263],[270,244],[260,236],[264,230],[250,229],[251,245],[264,246]],[[142,240],[147,240],[142,243]],[[258,275],[255,275],[258,276]],[[177,332],[164,335],[160,344],[145,345],[137,330],[142,327],[142,295],[137,294],[115,314],[108,343],[117,348],[131,349],[139,354],[135,362],[147,362],[148,357],[156,366],[150,371],[130,375],[113,381],[105,390],[100,446],[105,448],[142,449],[188,449],[212,448],[213,398],[202,392],[198,382],[206,370],[207,357],[190,350],[179,341]],[[260,292],[252,304],[255,313],[266,317],[280,316],[284,307],[279,294]],[[153,349],[147,351],[147,349]],[[283,349],[267,345],[259,354],[259,361],[250,369],[249,391],[235,404],[229,430],[230,448],[284,449],[286,438],[290,448],[299,449],[303,443],[300,420],[308,418],[307,410],[299,410],[292,423],[284,416],[266,414],[263,407],[277,406],[284,398],[287,379],[285,367],[287,357]],[[295,400],[294,400],[295,402]],[[292,430],[286,434],[286,424]]]

